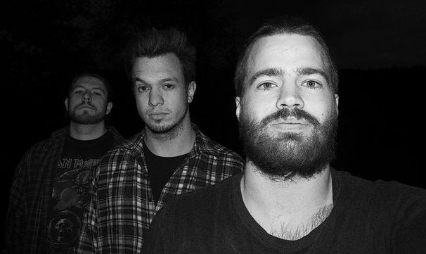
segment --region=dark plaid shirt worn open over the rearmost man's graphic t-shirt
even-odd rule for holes
[[[114,127],[107,127],[115,145],[124,141]],[[13,176],[6,218],[7,253],[46,253],[47,216],[53,177],[70,127],[51,134],[25,153]]]

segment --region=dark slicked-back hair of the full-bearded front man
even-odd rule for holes
[[[325,44],[325,39],[321,32],[301,18],[283,16],[266,21],[262,27],[260,27],[247,39],[247,42],[243,47],[243,51],[240,53],[237,67],[235,69],[234,86],[236,96],[242,96],[247,75],[247,61],[254,44],[256,44],[259,39],[278,34],[299,34],[316,39],[318,44],[321,46],[321,54],[323,56],[323,61],[325,61],[325,73],[328,76],[331,90],[334,94],[337,94],[339,87],[337,67],[333,61],[327,44]]]

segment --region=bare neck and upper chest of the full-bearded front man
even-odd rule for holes
[[[318,227],[333,208],[330,167],[309,179],[273,181],[247,161],[241,179],[247,210],[269,234],[300,239]]]

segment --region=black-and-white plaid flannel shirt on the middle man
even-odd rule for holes
[[[143,155],[144,130],[103,157],[93,177],[77,253],[139,253],[150,222],[164,204],[243,171],[240,155],[209,139],[196,125],[193,129],[193,148],[165,184],[157,204]]]

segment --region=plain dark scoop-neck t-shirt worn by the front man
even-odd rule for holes
[[[426,190],[331,172],[333,210],[302,239],[279,239],[257,224],[245,208],[238,175],[164,206],[143,252],[425,253]]]

